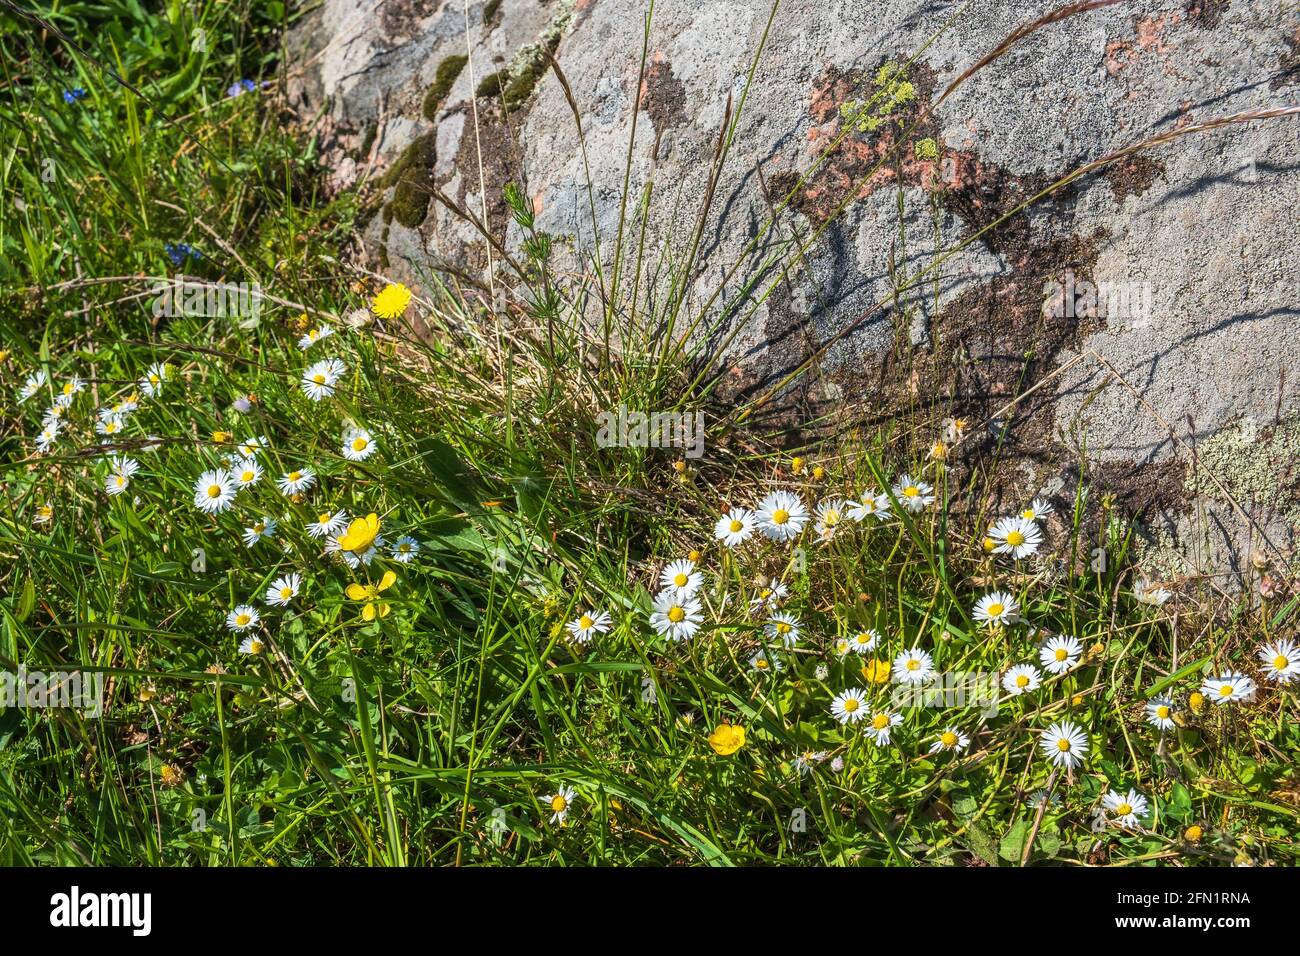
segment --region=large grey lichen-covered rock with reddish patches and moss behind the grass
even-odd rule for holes
[[[701,242],[699,298],[736,261],[731,293],[775,243],[810,245],[786,277],[767,272],[757,310],[729,319],[715,358],[732,394],[809,359],[810,407],[855,403],[871,418],[942,394],[972,421],[998,418],[1014,498],[1037,490],[1069,505],[1086,447],[1095,490],[1147,511],[1157,576],[1288,551],[1300,531],[1300,118],[1174,138],[971,239],[1109,151],[1300,103],[1300,20],[1287,7],[1089,10],[931,109],[1052,5],[783,3]],[[525,183],[541,230],[578,252],[595,235],[607,255],[625,169],[630,195],[653,183],[649,247],[684,250],[770,10],[659,0],[638,83],[634,0],[325,0],[295,30],[290,98],[303,117],[324,111],[334,186],[381,191],[364,239],[394,276],[419,284],[439,264],[486,264],[482,239],[430,189],[517,243],[507,181]],[[572,88],[581,143],[543,51]],[[892,151],[898,160],[878,169]],[[785,196],[790,208],[763,232]],[[746,255],[755,235],[760,252]],[[876,308],[922,269],[897,306]]]

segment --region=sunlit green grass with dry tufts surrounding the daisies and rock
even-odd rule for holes
[[[47,5],[84,55],[0,21],[0,190],[8,209],[22,200],[0,225],[0,669],[105,679],[99,718],[0,711],[0,862],[1295,862],[1294,691],[1260,679],[1254,702],[1188,706],[1210,670],[1260,678],[1254,649],[1291,633],[1295,602],[1139,604],[1132,523],[1083,497],[1058,502],[1043,557],[987,557],[979,502],[992,462],[957,486],[927,459],[942,410],[800,449],[796,468],[790,449],[746,424],[757,406],[720,407],[696,364],[692,343],[714,320],[703,317],[711,303],[688,304],[685,280],[711,196],[662,251],[638,243],[645,203],[627,196],[618,247],[573,280],[510,190],[526,243],[517,259],[498,258],[514,278],[507,310],[486,308],[463,278],[430,276],[402,320],[350,326],[384,285],[341,264],[377,198],[325,203],[312,144],[282,127],[273,92],[225,96],[242,77],[274,87],[291,14],[213,3],[192,21],[179,4],[151,9]],[[196,26],[207,52],[194,49]],[[65,104],[72,87],[86,99]],[[139,277],[176,272],[164,246],[177,242],[203,251],[186,273],[274,297],[256,328],[155,321],[151,280]],[[777,250],[728,297],[732,316],[801,252]],[[650,287],[662,293],[653,304]],[[337,334],[303,352],[298,337],[321,320]],[[300,372],[326,356],[347,373],[311,402]],[[157,362],[170,381],[113,438],[140,471],[107,496],[95,411],[135,393]],[[20,403],[35,369],[51,385]],[[87,385],[69,428],[36,454],[42,410],[74,375]],[[598,415],[619,405],[705,410],[705,458],[599,447]],[[378,445],[360,463],[341,454],[351,423]],[[268,438],[266,476],[231,511],[199,511],[199,473],[255,436]],[[286,498],[272,479],[302,466],[318,485]],[[853,497],[902,471],[935,485],[936,507],[852,525],[824,546],[806,535],[800,550],[714,541],[723,503],[753,505],[774,488],[809,503]],[[40,524],[44,502],[53,516]],[[381,515],[390,540],[422,542],[417,558],[347,568],[304,531],[326,507]],[[263,515],[280,532],[250,549],[240,533]],[[1093,571],[1098,545],[1108,561]],[[706,572],[705,627],[675,645],[647,610],[662,564],[690,550]],[[385,570],[396,575],[382,593],[391,614],[365,622],[347,585]],[[289,571],[304,594],[268,607],[261,594]],[[805,628],[789,652],[749,610],[774,578]],[[1030,626],[972,620],[994,585],[1017,594]],[[238,604],[261,613],[266,653],[238,653],[224,624]],[[580,648],[563,624],[589,607],[614,624]],[[944,671],[1035,661],[1036,628],[1076,635],[1087,654],[1032,695],[1001,695],[993,717],[904,710],[894,745],[876,748],[829,714],[849,687],[868,687],[874,706],[888,698],[863,680],[862,658],[833,653],[837,637],[867,627],[881,635],[880,659],[922,646]],[[759,649],[784,670],[750,667]],[[1182,711],[1165,735],[1143,717],[1157,693]],[[1057,719],[1091,741],[1069,778],[1036,747]],[[746,730],[725,757],[708,745],[723,722]],[[948,726],[971,736],[968,750],[931,756]],[[796,758],[806,753],[824,756],[805,774]],[[564,826],[549,822],[560,786],[577,793]],[[1061,800],[1040,816],[1027,797],[1044,787]],[[1152,800],[1144,830],[1095,830],[1101,792],[1128,787]],[[1184,839],[1192,825],[1197,843]]]

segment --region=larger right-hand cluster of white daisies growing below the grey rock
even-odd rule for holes
[[[931,484],[901,475],[887,492],[874,488],[849,497],[831,496],[815,506],[810,506],[798,490],[774,490],[754,507],[731,507],[714,525],[714,537],[720,546],[724,562],[733,561],[741,549],[759,548],[780,550],[797,542],[807,541],[827,545],[853,528],[872,528],[896,520],[902,512],[922,515],[935,507],[936,494]],[[1022,562],[1037,554],[1046,540],[1045,522],[1052,514],[1052,505],[1041,498],[1019,512],[993,520],[987,533],[979,541],[980,550],[987,555],[1002,557]],[[736,622],[724,613],[728,600],[727,576],[714,572],[701,564],[702,555],[693,551],[686,557],[668,561],[656,574],[658,589],[650,602],[647,624],[654,633],[672,644],[692,641],[711,626],[710,607],[719,605],[718,627],[734,628]],[[1143,593],[1135,597],[1143,604],[1162,604],[1169,593],[1152,594],[1158,589],[1145,581],[1139,581]],[[1135,588],[1138,591],[1139,588]],[[716,598],[714,601],[712,598]],[[932,684],[940,676],[936,662],[939,649],[926,649],[915,641],[892,654],[883,654],[887,645],[885,635],[875,627],[853,627],[836,615],[836,635],[822,646],[810,627],[786,605],[790,601],[790,585],[785,580],[767,579],[748,601],[748,611],[760,623],[751,630],[762,633],[762,646],[748,656],[748,666],[758,675],[777,675],[797,662],[797,654],[826,654],[831,659],[844,661],[859,656],[863,687],[845,687],[831,691],[827,713],[832,728],[838,728],[841,747],[838,750],[809,749],[793,760],[794,770],[803,775],[811,773],[823,761],[831,761],[835,771],[845,766],[845,757],[857,753],[857,740],[866,741],[868,749],[884,749],[900,745],[900,735],[907,739],[907,724],[928,721],[920,706],[906,708],[913,714],[907,718],[905,708],[900,708],[898,691],[920,689]],[[972,597],[967,614],[970,620],[989,640],[1001,641],[1011,635],[1018,626],[1036,637],[1036,653],[1032,659],[1011,661],[998,675],[998,685],[1004,697],[1000,705],[1009,705],[1017,698],[1028,700],[1035,692],[1049,687],[1066,688],[1066,702],[1078,704],[1080,698],[1070,689],[1072,683],[1065,683],[1089,657],[1101,652],[1101,645],[1093,649],[1070,633],[1049,633],[1034,627],[1024,611],[1024,594],[993,589]],[[733,617],[733,615],[732,615]],[[611,630],[611,615],[590,607],[567,624],[568,637],[580,645],[590,644],[595,637]],[[636,626],[636,622],[632,622]],[[806,648],[811,640],[814,646]],[[1262,671],[1269,680],[1288,684],[1300,678],[1300,646],[1292,640],[1270,643],[1258,650]],[[952,665],[961,666],[959,661]],[[818,680],[829,676],[829,666],[818,663],[814,671]],[[1256,685],[1252,678],[1238,671],[1227,671],[1208,676],[1200,691],[1191,696],[1193,706],[1202,701],[1216,705],[1228,705],[1253,698]],[[906,700],[906,695],[902,696]],[[1039,697],[1039,709],[1046,709],[1052,701]],[[1037,709],[1026,715],[1037,713]],[[1179,721],[1178,708],[1167,696],[1158,696],[1145,704],[1147,721],[1160,731],[1175,728]],[[729,726],[729,724],[728,724]],[[965,753],[971,740],[979,734],[992,732],[987,727],[961,726],[959,723],[940,724],[922,734],[918,744],[927,756]],[[832,734],[833,736],[833,734]],[[1076,719],[1056,719],[1048,726],[1034,731],[1037,750],[1054,773],[1063,773],[1072,779],[1072,773],[1082,767],[1092,750],[1089,730]],[[712,741],[711,741],[712,743]],[[718,749],[715,747],[715,749]],[[724,753],[723,750],[718,750]],[[727,750],[731,753],[733,750]],[[972,757],[974,760],[974,757]],[[1054,778],[1053,778],[1054,779]],[[1054,793],[1052,795],[1054,797]],[[555,796],[554,821],[563,821],[572,801],[571,793],[563,791]],[[560,806],[563,801],[563,806]],[[1134,788],[1126,791],[1109,790],[1102,795],[1102,806],[1112,823],[1136,829],[1149,813],[1148,799]],[[554,809],[552,808],[552,809]]]

